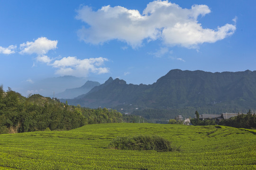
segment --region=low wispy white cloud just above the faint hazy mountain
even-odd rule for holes
[[[109,68],[100,67],[108,61],[106,58],[90,58],[77,59],[76,57],[64,57],[60,60],[55,60],[51,64],[58,70],[55,72],[58,75],[64,76],[87,76],[90,72],[96,74],[108,73]]]

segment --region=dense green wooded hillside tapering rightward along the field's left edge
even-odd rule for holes
[[[117,110],[71,106],[39,94],[23,97],[0,86],[0,134],[42,130],[70,130],[86,124],[131,122]]]

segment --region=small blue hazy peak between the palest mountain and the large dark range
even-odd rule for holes
[[[98,85],[101,85],[101,84],[99,82],[87,81],[81,87],[66,89],[62,93],[57,93],[56,97],[62,98],[62,99],[73,99],[74,97],[77,97],[81,94],[85,94],[85,93],[89,92],[93,87],[98,86]]]

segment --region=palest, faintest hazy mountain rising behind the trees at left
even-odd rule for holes
[[[61,93],[65,89],[80,87],[86,82],[85,78],[75,76],[59,76],[51,77],[43,80],[35,81],[26,87],[30,93],[41,94],[47,97],[53,97],[53,92]]]

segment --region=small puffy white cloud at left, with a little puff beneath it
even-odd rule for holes
[[[19,45],[20,54],[33,54],[36,53],[37,61],[49,63],[52,61],[48,56],[45,54],[50,50],[55,50],[57,48],[58,41],[48,40],[46,37],[37,38],[34,42],[26,42]]]

